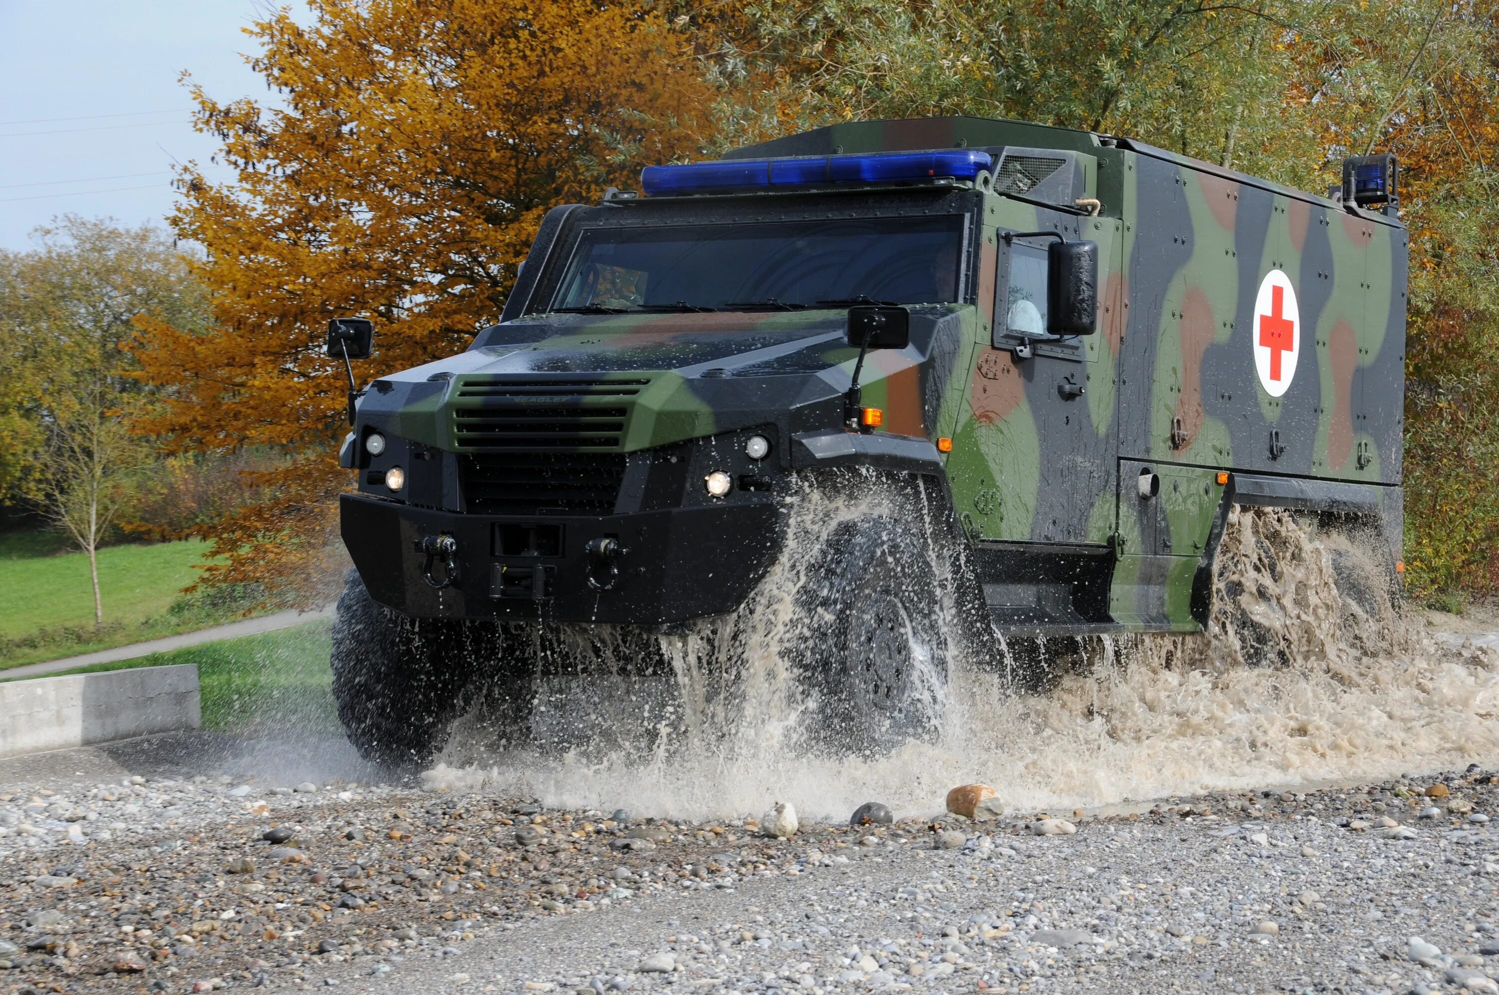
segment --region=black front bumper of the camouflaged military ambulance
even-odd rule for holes
[[[782,539],[770,500],[516,518],[343,495],[340,515],[370,596],[412,617],[661,625],[724,614],[766,575]],[[421,541],[441,535],[457,544],[457,569],[436,587],[448,566]],[[624,550],[612,562],[589,551],[606,538]]]

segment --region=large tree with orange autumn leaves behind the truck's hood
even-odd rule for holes
[[[217,325],[147,324],[147,378],[169,385],[147,424],[189,451],[279,447],[250,483],[274,498],[219,526],[217,580],[313,596],[346,486],[342,373],[321,355],[330,316],[379,328],[360,376],[465,348],[493,322],[541,216],[699,144],[709,90],[690,39],[649,3],[313,0],[274,13],[250,58],[280,102],[220,103],[196,123],[235,168],[181,174],[177,231]]]

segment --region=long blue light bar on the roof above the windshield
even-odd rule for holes
[[[678,166],[646,166],[640,187],[649,196],[708,190],[764,190],[770,187],[830,186],[835,183],[901,183],[911,180],[973,180],[994,160],[986,151],[881,151],[854,156],[799,159],[726,159]]]

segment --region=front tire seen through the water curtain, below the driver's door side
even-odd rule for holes
[[[814,739],[880,755],[935,739],[949,643],[926,542],[887,518],[844,523],[802,589],[805,679],[817,694]],[[920,665],[917,653],[928,662]]]

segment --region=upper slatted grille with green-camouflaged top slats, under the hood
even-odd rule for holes
[[[463,450],[618,450],[628,399],[649,379],[465,376],[453,397]]]

